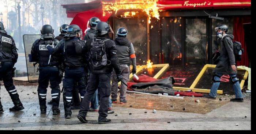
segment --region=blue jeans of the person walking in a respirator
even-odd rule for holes
[[[220,77],[223,74],[217,73],[216,75],[218,75],[219,77],[214,76],[214,80],[215,81],[220,81],[221,80]],[[236,77],[236,74],[229,74],[229,76],[230,77]],[[236,80],[237,80],[237,78],[232,79],[233,82],[236,81]],[[214,82],[212,84],[211,91],[210,91],[210,94],[209,94],[210,96],[212,96],[212,97],[217,96],[217,90],[219,88],[219,84],[220,84],[220,82]],[[242,91],[241,91],[241,88],[240,88],[240,83],[237,81],[236,83],[234,83],[233,87],[234,87],[234,92],[235,92],[236,98],[243,98],[243,94],[242,94]]]

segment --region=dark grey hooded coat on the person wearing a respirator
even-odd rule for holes
[[[215,73],[220,74],[237,74],[233,71],[231,65],[236,64],[235,55],[233,51],[233,35],[224,35],[221,40],[221,56],[220,61],[214,69]]]

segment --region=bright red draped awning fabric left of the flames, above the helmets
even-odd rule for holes
[[[76,14],[74,19],[70,24],[76,24],[79,25],[79,27],[82,29],[82,31],[85,31],[87,28],[87,22],[91,17],[98,17],[101,21],[107,21],[109,17],[111,16],[110,13],[106,13],[105,16],[102,15],[102,8],[96,8],[96,9],[91,9],[88,11],[80,12]]]

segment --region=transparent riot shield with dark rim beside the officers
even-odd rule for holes
[[[41,35],[23,35],[23,42],[24,42],[24,49],[25,49],[25,56],[26,56],[26,64],[27,64],[27,77],[29,83],[38,82],[39,71],[37,71],[38,64],[35,62],[29,61],[29,55],[31,52],[31,47],[35,40],[40,39]]]

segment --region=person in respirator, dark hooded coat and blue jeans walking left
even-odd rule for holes
[[[230,82],[234,85],[234,92],[236,98],[230,99],[233,102],[243,102],[243,95],[241,92],[239,81],[236,77],[237,67],[236,60],[233,51],[233,35],[227,34],[227,25],[219,25],[215,28],[218,38],[221,38],[221,56],[220,61],[214,69],[215,75],[212,77],[213,84],[211,87],[210,94],[205,95],[205,97],[210,99],[216,99],[217,90],[220,84],[221,76],[224,74],[229,74]]]

